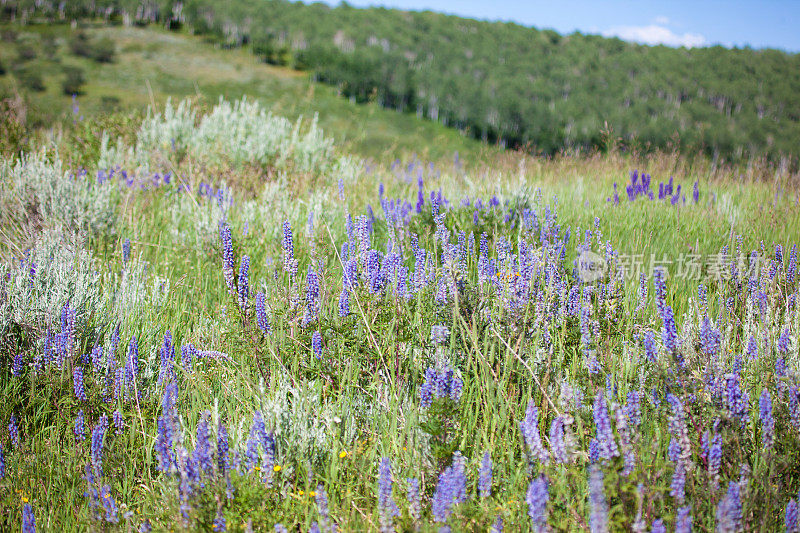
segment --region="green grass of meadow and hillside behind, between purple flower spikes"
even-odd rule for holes
[[[61,32],[63,36],[66,28],[34,30]],[[780,243],[788,257],[790,245],[800,235],[795,176],[776,173],[773,180],[764,181],[752,175],[743,177],[738,169],[720,169],[706,161],[690,166],[686,159],[666,155],[543,160],[500,153],[430,123],[371,106],[351,105],[294,73],[255,64],[243,52],[214,50],[190,37],[150,29],[96,31],[119,32],[120,50],[117,62],[111,65],[81,62],[90,80],[81,97],[85,123],[83,129],[67,126],[64,130],[59,154],[65,160],[78,160],[78,155],[90,153],[85,150],[87,145],[78,141],[93,143],[99,137],[100,132],[95,130],[101,126],[93,117],[100,109],[92,106],[99,106],[102,96],[118,95],[126,107],[143,106],[150,101],[144,80],[150,80],[156,105],[167,95],[199,92],[203,102],[209,104],[221,93],[231,99],[248,94],[290,117],[319,112],[321,124],[337,140],[336,155],[371,157],[373,166],[347,177],[342,201],[338,185],[342,176],[335,172],[310,175],[291,167],[278,171],[252,163],[234,165],[224,158],[219,162],[214,154],[183,157],[154,150],[146,154],[150,169],[171,171],[170,185],[143,190],[113,182],[102,205],[75,203],[79,196],[76,192],[48,199],[56,206],[49,211],[42,207],[48,187],[72,184],[71,178],[56,176],[41,185],[39,178],[29,176],[20,184],[8,167],[2,167],[0,238],[4,250],[20,253],[5,262],[14,281],[2,285],[8,292],[0,294],[20,297],[10,300],[12,307],[0,307],[0,390],[5,399],[0,405],[0,423],[6,426],[14,414],[21,433],[21,445],[16,447],[5,431],[0,432],[6,463],[6,476],[0,479],[2,529],[16,530],[23,505],[31,503],[40,530],[127,530],[139,527],[145,518],[156,531],[209,530],[221,509],[229,531],[245,530],[248,521],[252,521],[254,530],[269,530],[282,522],[290,530],[307,531],[320,519],[311,493],[322,485],[330,500],[330,516],[341,530],[373,531],[379,527],[377,464],[381,457],[389,457],[393,497],[401,510],[394,524],[403,531],[417,525],[405,499],[406,478],[417,477],[423,492],[423,519],[418,525],[422,531],[437,531],[440,524],[432,520],[430,498],[436,478],[448,461],[449,453],[445,452],[453,449],[467,458],[469,494],[468,501],[457,505],[449,519],[454,530],[485,531],[497,515],[503,517],[506,531],[527,529],[530,521],[525,492],[531,479],[540,473],[549,482],[548,523],[555,530],[585,529],[590,516],[588,449],[596,432],[591,403],[609,382],[617,387],[610,405],[611,400],[624,404],[631,391],[640,391],[643,396],[642,425],[632,444],[637,468],[625,477],[620,458],[603,466],[612,530],[630,529],[640,483],[644,486],[643,513],[648,523],[661,517],[670,529],[674,527],[680,503],[670,495],[675,466],[668,458],[670,410],[664,401],[666,391],[678,395],[686,406],[692,461],[686,494],[695,531],[714,529],[717,505],[728,483],[740,479],[742,464],[751,472],[743,498],[743,528],[780,529],[783,510],[800,488],[800,434],[791,424],[789,396],[779,392],[774,370],[776,341],[788,327],[792,340],[784,358],[789,375],[783,380],[787,385],[797,385],[800,313],[788,304],[789,294],[796,294],[796,280],[790,282],[784,273],[774,281],[764,278],[762,289],[769,311],[761,316],[748,311],[748,301],[754,300],[749,298],[747,282],[742,286],[729,280],[717,283],[709,277],[707,267],[701,269],[701,280],[668,279],[666,302],[675,310],[686,367],[678,366],[664,350],[657,362],[644,358],[641,334],[653,331],[660,342],[662,319],[655,309],[652,283],[646,307],[640,313],[636,311],[640,303],[637,280],[626,280],[615,286],[618,292],[613,298],[590,304],[599,331],[599,335],[592,334],[590,343],[602,366],[600,373],[593,374],[588,371],[580,345],[579,319],[570,317],[544,326],[542,308],[536,301],[509,310],[504,303],[508,295],[503,295],[502,289],[496,292],[486,284],[479,286],[475,256],[467,259],[462,289],[445,304],[435,302],[433,286],[414,299],[398,300],[391,291],[372,294],[362,280],[362,285],[352,291],[351,313],[340,317],[342,264],[338,254],[347,238],[347,214],[364,214],[368,204],[376,217],[372,246],[386,251],[390,232],[379,207],[378,187],[384,184],[387,198],[416,203],[416,170],[407,181],[392,169],[395,157],[413,151],[427,154],[425,157],[435,162],[432,172],[425,167],[425,190],[429,193],[441,188],[451,203],[444,220],[453,232],[450,242],[456,242],[461,230],[474,232],[479,242],[480,233],[485,231],[491,257],[497,257],[494,244],[501,237],[514,243],[534,243],[537,253],[542,248],[536,232],[521,229],[518,211],[516,217],[506,221],[507,209],[498,208],[481,215],[475,226],[474,208],[460,207],[463,198],[469,197],[474,203],[480,197],[486,203],[497,195],[510,207],[530,208],[542,221],[544,206],[555,205],[556,197],[560,238],[568,227],[571,231],[566,259],[557,262],[567,281],[582,234],[594,228],[595,218],[599,219],[602,242],[610,241],[619,253],[646,258],[654,254],[672,261],[681,254],[697,253],[707,259],[725,245],[735,250],[735,236],[741,235],[744,253],[760,249],[763,241],[768,255]],[[153,44],[146,44],[148,41]],[[48,65],[44,64],[56,68]],[[222,81],[209,83],[212,75]],[[68,105],[69,98],[57,94],[55,77],[47,79],[48,92],[34,95],[34,103],[44,106],[50,102],[54,109],[54,102]],[[192,80],[197,80],[196,88]],[[313,89],[310,97],[309,88]],[[351,116],[356,117],[352,122]],[[129,144],[135,141],[137,127],[134,120],[121,128]],[[452,151],[462,148],[465,162],[455,167],[450,159]],[[42,148],[41,153],[45,165],[48,157],[55,157],[52,150]],[[427,160],[423,158],[422,163]],[[700,202],[695,205],[689,200],[686,206],[647,200],[628,203],[624,198],[619,206],[606,202],[613,183],[622,185],[634,167],[651,172],[656,182],[674,175],[687,192],[698,180]],[[88,165],[90,176],[96,170],[96,162]],[[197,190],[200,182],[231,187],[233,204],[225,220],[232,229],[235,268],[238,271],[243,255],[250,257],[251,294],[265,293],[273,328],[270,334],[263,334],[256,325],[255,302],[250,301],[243,317],[236,297],[229,293],[218,237],[221,214],[214,209],[213,201],[178,190],[180,184],[190,184]],[[106,198],[99,195],[101,186],[93,179],[78,183],[85,184],[89,198]],[[621,193],[624,196],[624,186]],[[12,205],[17,214],[11,212]],[[81,209],[75,209],[76,205]],[[91,215],[102,213],[101,208],[108,205],[113,207],[113,224],[108,232],[87,234],[74,222],[83,220],[81,215],[92,220]],[[412,231],[419,236],[419,246],[438,254],[437,259],[442,254],[429,209],[426,199],[423,214],[413,215],[396,235],[395,242],[403,246],[404,264],[411,271]],[[307,229],[310,211],[314,212],[313,230]],[[13,216],[20,212],[20,216],[35,222],[33,235],[18,236],[19,228],[12,227],[19,225]],[[284,220],[291,222],[294,254],[300,263],[294,280],[283,271]],[[43,233],[47,229],[54,233],[47,236]],[[125,239],[130,239],[132,249],[127,263],[122,256]],[[596,239],[595,232],[592,248],[602,251]],[[37,250],[47,242],[53,247],[47,254],[36,256],[40,263],[33,283],[30,265],[19,261],[25,249],[22,242],[36,244]],[[78,249],[87,250],[91,260],[72,258],[48,269],[48,258],[56,256],[58,250],[69,249],[72,242]],[[322,272],[321,309],[319,319],[304,327],[306,276],[311,264]],[[101,277],[79,287],[76,272],[94,270]],[[137,272],[145,276],[141,284],[136,282]],[[437,272],[441,274],[442,269],[437,268]],[[501,274],[505,278],[514,272],[506,268]],[[555,288],[543,284],[544,272],[537,276],[542,282],[542,298],[558,303],[552,300]],[[722,350],[716,358],[700,350],[699,282],[708,288],[708,314],[722,330]],[[59,313],[67,297],[54,301],[57,299],[52,296],[61,294],[61,289],[67,295],[85,289],[81,294],[89,295],[85,301],[70,300],[78,310],[75,357],[63,369],[50,366],[34,372],[30,363],[41,353],[48,329],[53,333],[61,328]],[[728,298],[732,298],[732,310],[727,309]],[[436,346],[431,341],[431,326],[439,324],[448,326],[451,334],[445,344]],[[71,368],[80,364],[78,356],[96,343],[107,348],[117,325],[121,340],[115,354],[120,363],[127,357],[131,338],[137,339],[141,398],[106,403],[98,375],[89,370],[91,365],[85,365],[88,400],[78,400]],[[550,344],[545,342],[545,328]],[[177,476],[156,468],[157,418],[162,415],[164,390],[158,384],[159,349],[166,331],[172,333],[176,345],[176,359],[171,363],[179,385],[178,413],[188,451],[195,447],[197,424],[207,410],[215,421],[226,423],[232,448],[244,453],[254,413],[262,411],[267,429],[276,432],[275,465],[280,466],[279,471],[273,470],[272,486],[261,482],[260,472],[243,469],[241,474],[233,473],[232,501],[226,496],[221,476],[206,478],[205,488],[196,489],[198,494],[191,500],[188,527],[181,517]],[[319,359],[312,353],[314,331],[319,331],[323,339],[324,351]],[[741,363],[739,374],[742,387],[749,393],[750,418],[740,426],[722,407],[722,400],[712,394],[707,378],[710,373],[722,379],[732,370],[735,357],[746,353],[751,333],[761,343],[762,356],[753,360],[744,356]],[[224,352],[227,358],[202,359],[192,370],[184,369],[180,346],[188,343]],[[17,354],[23,354],[28,363],[21,376],[10,371]],[[431,409],[421,408],[419,392],[425,371],[443,359],[463,379],[462,398],[457,404],[443,401]],[[563,383],[578,387],[584,394],[584,406],[589,408],[565,407],[559,400]],[[647,399],[653,388],[661,393],[660,406]],[[763,425],[758,414],[758,397],[765,388],[772,395],[777,421],[775,445],[767,451],[762,450]],[[540,434],[548,448],[547,429],[556,414],[569,412],[574,419],[571,431],[576,454],[569,465],[529,462],[519,422],[531,399],[539,410]],[[123,411],[126,427],[116,434],[112,425],[105,440],[102,482],[110,485],[120,518],[119,524],[108,524],[90,516],[89,500],[84,496],[87,484],[82,478],[90,461],[89,444],[75,443],[72,432],[79,409],[91,426],[101,413],[110,415],[115,408]],[[431,424],[426,422],[431,419],[442,422],[447,430],[430,436],[426,428]],[[717,419],[720,425],[714,429]],[[612,426],[620,440],[622,433],[616,420]],[[709,480],[708,465],[702,458],[700,442],[707,430],[718,430],[723,441],[720,488],[714,488]],[[494,461],[492,497],[485,500],[475,496],[477,469],[484,451],[489,451]]]

